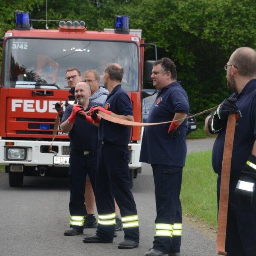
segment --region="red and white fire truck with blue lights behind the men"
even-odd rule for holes
[[[68,98],[65,71],[103,73],[107,64],[124,68],[122,88],[131,98],[134,120],[141,122],[143,57],[141,30],[130,30],[127,16],[115,17],[115,28],[88,31],[82,20],[61,20],[58,29],[32,29],[28,13],[16,13],[16,27],[5,33],[0,84],[0,165],[10,186],[21,186],[24,175],[65,171],[69,160],[68,134],[58,130],[49,152],[55,124],[55,103]],[[155,48],[156,52],[156,48]],[[150,68],[149,74],[150,75]],[[103,81],[101,81],[103,85]],[[131,178],[141,171],[141,127],[131,131]]]

